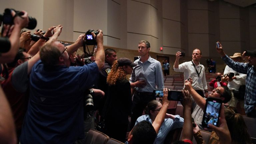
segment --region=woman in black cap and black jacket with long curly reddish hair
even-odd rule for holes
[[[125,142],[128,116],[131,114],[131,85],[126,75],[132,74],[137,64],[128,58],[120,58],[112,65],[107,77],[108,95],[103,109],[105,131],[110,138]]]

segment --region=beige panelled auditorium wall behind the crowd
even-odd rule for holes
[[[256,48],[256,8],[208,0],[0,0],[0,12],[11,7],[36,17],[36,28],[63,25],[59,40],[74,42],[88,29],[102,29],[104,45],[137,50],[138,41],[151,52],[174,56],[201,49],[218,57],[220,41],[228,55]],[[163,51],[159,48],[163,47]],[[121,52],[121,51],[120,51]]]

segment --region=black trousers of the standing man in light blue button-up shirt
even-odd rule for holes
[[[148,102],[155,100],[156,98],[150,92],[137,92],[133,95],[132,116],[131,116],[131,129],[134,127],[138,117],[143,113],[143,110],[147,106]]]

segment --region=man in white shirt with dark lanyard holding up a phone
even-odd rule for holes
[[[189,77],[193,80],[193,89],[202,97],[208,97],[207,83],[205,79],[204,66],[199,63],[202,53],[199,49],[194,49],[192,54],[192,61],[179,64],[181,52],[176,53],[176,60],[174,62],[173,70],[176,72],[184,72],[184,79]],[[205,95],[204,95],[204,92]]]

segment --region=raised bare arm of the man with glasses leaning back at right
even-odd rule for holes
[[[192,95],[194,101],[196,102],[197,105],[200,106],[201,109],[204,110],[205,104],[206,104],[206,100],[200,96],[192,87],[191,83],[186,80],[185,81],[185,88],[189,91],[189,93]]]

